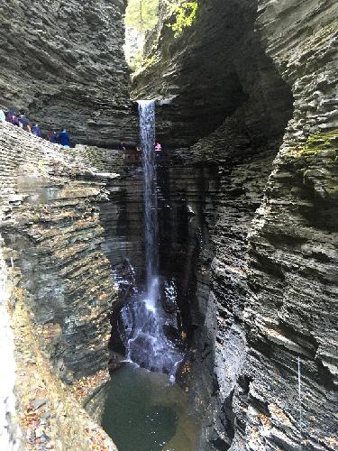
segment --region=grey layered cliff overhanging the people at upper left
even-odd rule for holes
[[[24,108],[44,130],[112,148],[135,141],[123,55],[124,0],[0,5],[0,107]]]

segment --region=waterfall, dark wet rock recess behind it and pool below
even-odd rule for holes
[[[114,202],[101,208],[119,290],[103,426],[122,451],[194,451],[196,262],[217,178],[212,168],[193,172],[155,157],[154,108],[139,104],[142,168],[118,180]]]

